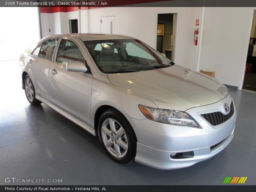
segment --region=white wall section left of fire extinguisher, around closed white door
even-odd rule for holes
[[[115,33],[140,39],[156,48],[158,13],[178,13],[175,62],[195,70],[194,31],[200,19],[199,7],[107,7],[81,11],[83,33],[100,33],[100,17],[115,16]]]

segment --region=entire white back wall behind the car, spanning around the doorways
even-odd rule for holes
[[[80,15],[79,11],[52,13],[51,34],[68,33],[69,19],[79,20],[82,33],[100,33],[100,17],[111,15],[116,34],[156,48],[157,14],[178,13],[174,62],[192,70],[215,71],[221,83],[242,89],[253,11],[250,7],[107,7],[81,10]],[[196,19],[201,19],[198,46],[194,45]]]

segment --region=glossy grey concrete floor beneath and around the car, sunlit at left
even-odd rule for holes
[[[97,137],[45,104],[28,103],[17,60],[0,61],[0,68],[0,185],[8,184],[6,177],[55,178],[62,185],[220,185],[225,177],[235,176],[256,184],[253,92],[230,90],[237,122],[227,148],[191,167],[162,171],[138,163],[116,164]]]

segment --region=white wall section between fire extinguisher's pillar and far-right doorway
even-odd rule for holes
[[[200,69],[215,71],[221,83],[242,89],[252,25],[250,7],[206,7]],[[222,70],[215,69],[222,65]]]

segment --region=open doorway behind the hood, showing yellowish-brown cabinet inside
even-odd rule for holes
[[[156,50],[174,62],[177,14],[157,14]]]

